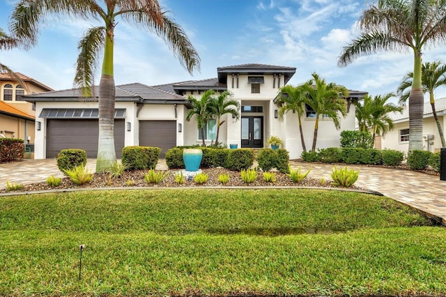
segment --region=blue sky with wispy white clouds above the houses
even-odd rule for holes
[[[0,0],[0,27],[7,31],[15,0]],[[115,83],[149,86],[217,77],[217,67],[262,63],[295,67],[289,84],[318,73],[327,82],[371,96],[395,92],[413,71],[413,53],[380,52],[337,66],[342,48],[357,37],[357,20],[365,0],[160,0],[169,17],[183,27],[201,58],[193,75],[181,65],[164,40],[118,20],[115,29]],[[31,50],[0,52],[0,63],[50,86],[71,89],[77,43],[95,20],[47,17],[38,44]],[[446,63],[446,45],[426,49],[423,61]],[[102,62],[102,59],[100,59]],[[100,67],[96,81],[99,82]],[[446,97],[446,88],[436,98]],[[427,99],[427,97],[426,97]],[[397,99],[394,98],[397,102]]]

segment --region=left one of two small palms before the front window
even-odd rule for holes
[[[192,116],[197,116],[197,126],[201,132],[201,140],[203,141],[203,146],[206,146],[206,137],[204,135],[204,127],[213,116],[212,101],[213,101],[213,90],[208,90],[203,93],[200,99],[194,96],[189,96],[187,99],[190,101],[192,108],[186,114],[186,121],[190,121]]]

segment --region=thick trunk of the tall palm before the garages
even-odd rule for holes
[[[105,36],[104,61],[99,84],[99,137],[96,172],[109,172],[116,162],[114,149],[113,29]]]

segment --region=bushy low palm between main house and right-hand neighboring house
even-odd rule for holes
[[[376,135],[385,135],[394,128],[393,120],[390,118],[391,112],[403,112],[403,107],[387,102],[394,97],[393,93],[385,96],[369,95],[364,96],[364,104],[359,102],[356,107],[356,119],[360,125],[361,131],[372,130],[373,142],[375,144]]]

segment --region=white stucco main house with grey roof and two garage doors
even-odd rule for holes
[[[204,91],[217,94],[230,91],[240,101],[240,120],[224,116],[220,142],[238,144],[242,148],[263,148],[270,135],[282,138],[291,158],[302,153],[296,114],[277,118],[275,98],[279,90],[294,75],[295,68],[263,64],[245,64],[217,68],[217,78],[146,86],[123,84],[116,86],[115,146],[121,157],[124,146],[158,146],[162,157],[174,146],[201,144],[201,133],[194,118],[186,121],[190,102],[187,96],[200,98]],[[96,89],[95,93],[98,93]],[[364,92],[352,91],[349,112],[341,121],[341,130],[355,129],[355,107],[351,102],[364,97]],[[83,148],[89,158],[95,158],[98,148],[98,102],[79,97],[77,89],[52,91],[26,96],[36,104],[35,158],[54,158],[63,148]],[[303,125],[307,146],[314,131],[314,114],[307,110]],[[206,143],[215,137],[215,123],[206,126]],[[330,119],[321,119],[318,148],[339,146],[339,134]]]

